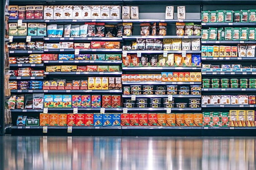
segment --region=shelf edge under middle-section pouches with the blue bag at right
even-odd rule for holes
[[[201,70],[201,67],[122,67],[123,70]]]

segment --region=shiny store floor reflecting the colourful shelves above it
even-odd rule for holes
[[[0,137],[4,170],[255,170],[256,138]],[[2,148],[1,148],[2,149]],[[1,167],[0,167],[1,168]]]

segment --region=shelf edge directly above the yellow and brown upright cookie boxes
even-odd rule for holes
[[[122,72],[99,72],[99,71],[84,71],[84,72],[75,72],[75,71],[62,71],[62,72],[44,72],[45,75],[121,75]]]

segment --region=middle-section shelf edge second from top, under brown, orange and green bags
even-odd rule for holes
[[[156,38],[156,39],[162,39],[162,38],[201,38],[202,36],[123,36],[123,39],[146,39],[146,38]]]

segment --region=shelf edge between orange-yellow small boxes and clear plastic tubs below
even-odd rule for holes
[[[123,85],[201,85],[201,82],[124,81]]]

